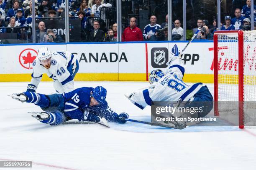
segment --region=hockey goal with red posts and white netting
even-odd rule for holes
[[[215,115],[237,114],[239,128],[256,125],[256,30],[215,32],[214,100]]]

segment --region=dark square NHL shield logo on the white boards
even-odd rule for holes
[[[154,68],[167,67],[168,49],[165,47],[155,47],[151,49],[151,65]]]

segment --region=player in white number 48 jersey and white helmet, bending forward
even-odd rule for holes
[[[70,52],[50,52],[47,47],[41,47],[32,66],[32,79],[27,91],[36,92],[43,73],[54,80],[54,89],[57,92],[67,93],[74,90],[74,76],[79,70],[79,64]]]

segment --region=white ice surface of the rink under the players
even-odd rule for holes
[[[35,170],[254,170],[256,127],[190,126],[174,130],[136,122],[111,128],[70,120],[43,124],[28,114],[41,109],[7,96],[26,90],[28,82],[0,83],[0,161],[32,161]],[[75,87],[108,90],[110,107],[130,118],[150,121],[150,107],[141,110],[127,100],[148,82],[75,82]],[[207,84],[213,92],[213,85]],[[41,82],[37,92],[54,92]],[[7,169],[7,168],[2,168]],[[11,168],[15,170],[15,168]]]

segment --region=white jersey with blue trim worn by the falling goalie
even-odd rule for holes
[[[188,101],[204,86],[202,83],[187,85],[182,81],[185,70],[180,58],[174,58],[168,67],[164,77],[149,88],[132,93],[129,100],[141,109],[153,105],[154,101]]]

